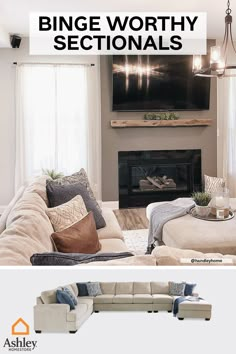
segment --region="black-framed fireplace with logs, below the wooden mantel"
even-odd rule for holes
[[[119,208],[189,197],[202,188],[201,150],[119,151]]]

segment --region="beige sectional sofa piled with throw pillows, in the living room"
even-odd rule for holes
[[[34,253],[52,252],[53,228],[46,215],[48,176],[35,178],[9,204],[0,220],[0,265],[31,265]],[[106,227],[98,230],[100,252],[127,252],[122,231],[111,209],[102,209]]]

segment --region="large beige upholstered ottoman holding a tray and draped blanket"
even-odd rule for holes
[[[189,203],[188,198],[177,199],[175,205]],[[147,217],[159,203],[152,203],[146,209]],[[230,199],[236,210],[236,199]],[[163,227],[162,240],[166,246],[189,249],[203,253],[222,253],[236,255],[236,216],[228,221],[205,221],[185,215],[168,221]]]

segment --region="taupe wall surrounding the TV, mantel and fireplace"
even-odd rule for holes
[[[215,176],[217,170],[216,81],[211,82],[209,111],[180,112],[182,118],[211,118],[211,127],[114,129],[112,119],[142,119],[143,112],[112,112],[112,58],[101,57],[102,117],[102,199],[118,200],[118,151],[202,149],[203,173]]]

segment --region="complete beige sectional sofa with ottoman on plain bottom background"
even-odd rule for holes
[[[100,311],[168,311],[172,312],[176,297],[169,295],[168,282],[100,282],[102,295],[79,296],[76,283],[64,287],[77,297],[70,310],[56,303],[56,289],[43,291],[34,306],[34,329],[41,332],[75,333],[93,312]],[[184,301],[179,305],[178,319],[211,318],[211,304],[204,300]]]

